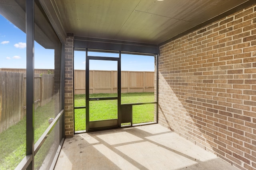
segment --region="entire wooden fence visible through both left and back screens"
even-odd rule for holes
[[[2,71],[1,71],[2,70]],[[26,115],[26,69],[0,70],[0,133]],[[50,70],[54,73],[54,70]],[[37,69],[34,75],[36,109],[54,96],[54,74]],[[42,75],[40,75],[42,74]],[[121,92],[154,92],[154,72],[121,72]],[[116,93],[117,71],[90,71],[90,93]],[[85,70],[74,70],[74,94],[85,94]]]

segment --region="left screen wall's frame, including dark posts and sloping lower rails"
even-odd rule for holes
[[[60,123],[60,138],[62,138],[58,151],[60,151],[64,141],[64,109],[62,109],[41,135],[40,139],[34,144],[34,5],[35,0],[26,0],[26,156],[24,156],[15,170],[34,170],[34,156],[42,147],[58,121]],[[62,108],[64,108],[64,47],[62,44],[60,67],[60,90],[62,91],[60,94],[60,104]],[[58,153],[54,157],[55,161],[58,158]],[[55,163],[54,161],[52,162],[51,169],[54,168]]]

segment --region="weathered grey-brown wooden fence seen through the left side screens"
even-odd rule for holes
[[[54,95],[54,74],[35,74],[36,109],[50,102]],[[26,115],[26,73],[0,71],[0,133]]]

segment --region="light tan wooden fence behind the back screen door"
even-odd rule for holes
[[[117,93],[117,71],[90,70],[90,94]],[[154,72],[122,71],[121,92],[154,92]],[[74,70],[74,93],[85,94],[85,70]]]

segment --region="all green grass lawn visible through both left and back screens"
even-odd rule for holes
[[[92,94],[91,98],[115,97],[116,94]],[[122,104],[154,102],[154,93],[122,94]],[[75,95],[75,106],[85,106],[85,96]],[[90,102],[90,119],[117,118],[116,100]],[[49,126],[48,119],[54,116],[54,100],[35,110],[35,143]],[[154,121],[154,104],[133,106],[133,123]],[[85,109],[75,109],[75,131],[85,130]],[[54,136],[52,131],[51,136]],[[41,166],[54,138],[48,137],[36,154],[35,168]],[[26,154],[26,117],[16,125],[0,133],[0,170],[15,169]]]

